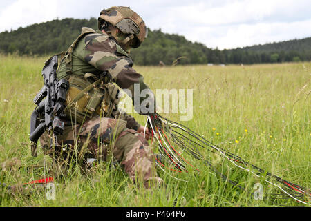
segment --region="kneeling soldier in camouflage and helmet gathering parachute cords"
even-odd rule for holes
[[[126,90],[133,103],[135,84],[147,90],[149,96],[139,97],[134,104],[138,113],[152,113],[156,106],[154,95],[144,84],[143,77],[133,68],[129,57],[131,48],[140,46],[147,37],[142,18],[129,7],[112,7],[100,12],[98,28],[82,28],[82,33],[68,48],[57,70],[57,78],[70,84],[66,101],[65,131],[57,136],[58,146],[48,153],[57,171],[66,173],[70,161],[87,165],[87,159],[116,160],[133,182],[142,180],[144,186],[162,183],[156,174],[154,157],[145,130],[131,115],[117,108],[119,90]],[[115,84],[113,84],[115,83]],[[136,97],[137,98],[137,97]],[[140,108],[147,104],[148,112]],[[146,109],[145,108],[145,109]],[[149,136],[146,128],[147,138]],[[50,136],[40,137],[42,146],[49,146]],[[73,156],[77,158],[73,160]]]

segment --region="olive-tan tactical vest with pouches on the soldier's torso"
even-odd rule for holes
[[[82,124],[95,116],[111,117],[120,101],[120,90],[111,82],[108,73],[100,76],[85,73],[84,77],[73,73],[72,54],[78,41],[85,35],[95,33],[91,28],[82,28],[82,33],[62,55],[61,64],[66,64],[66,79],[69,89],[66,100],[66,117]]]

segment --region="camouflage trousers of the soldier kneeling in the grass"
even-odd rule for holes
[[[50,136],[44,133],[40,142],[42,146],[48,144]],[[116,160],[133,182],[142,181],[146,188],[162,184],[147,140],[137,131],[126,128],[124,120],[93,117],[84,124],[65,126],[57,142],[58,148],[48,154],[59,173],[66,173],[69,162],[76,161],[85,168],[88,158]]]

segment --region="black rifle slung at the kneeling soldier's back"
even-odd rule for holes
[[[44,86],[33,99],[37,105],[30,119],[29,139],[33,157],[37,157],[37,142],[45,131],[50,131],[53,134],[53,142],[50,147],[53,147],[53,144],[57,145],[56,135],[61,135],[64,132],[64,122],[59,117],[65,116],[64,108],[69,82],[66,79],[60,81],[57,79],[57,67],[57,55],[46,61],[42,69]],[[46,99],[44,99],[45,97]]]

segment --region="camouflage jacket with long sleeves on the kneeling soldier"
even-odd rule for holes
[[[71,70],[68,71],[66,59],[62,59],[57,71],[58,79],[68,75],[84,77],[85,73],[99,75],[107,71],[111,75],[112,82],[122,89],[131,91],[133,101],[134,84],[139,84],[140,91],[149,88],[144,84],[142,75],[132,68],[133,61],[129,55],[113,39],[99,30],[95,32],[91,28],[82,28],[82,34],[70,48],[68,50],[71,50],[69,67]],[[122,110],[115,113],[114,117],[126,120],[128,128],[136,129],[140,126],[131,115]]]

